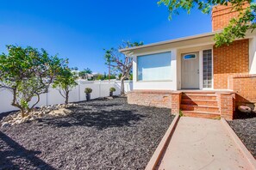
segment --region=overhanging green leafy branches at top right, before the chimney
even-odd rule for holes
[[[250,3],[250,6],[244,8],[244,4]],[[179,9],[184,9],[190,14],[190,10],[197,8],[203,14],[209,14],[215,5],[231,5],[231,11],[238,11],[239,15],[233,18],[222,33],[215,34],[215,46],[230,45],[234,39],[244,38],[247,31],[253,32],[256,27],[256,4],[252,0],[160,0],[158,4],[164,4],[169,12],[169,18],[173,14],[178,14]]]

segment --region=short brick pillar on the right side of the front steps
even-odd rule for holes
[[[218,106],[220,108],[220,113],[222,118],[227,120],[234,119],[234,104],[235,104],[235,94],[234,93],[218,93],[217,100]]]

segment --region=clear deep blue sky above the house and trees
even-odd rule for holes
[[[5,45],[44,48],[70,66],[107,71],[103,48],[122,40],[144,44],[211,31],[210,15],[197,9],[168,20],[157,0],[0,0],[0,52]]]

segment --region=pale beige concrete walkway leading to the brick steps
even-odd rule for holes
[[[182,117],[159,169],[251,170],[220,120]]]

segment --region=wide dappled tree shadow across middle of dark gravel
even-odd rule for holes
[[[41,123],[57,127],[87,126],[103,130],[110,127],[131,126],[146,116],[130,110],[112,110],[89,112],[83,108],[74,109],[74,113],[62,118],[44,118]]]

